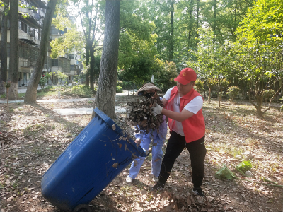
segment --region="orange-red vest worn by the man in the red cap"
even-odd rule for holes
[[[168,105],[166,108],[168,110],[173,111],[173,104],[174,104],[174,98],[175,95],[178,94],[178,88],[174,87],[171,91],[170,99],[168,100]],[[183,97],[180,98],[180,112],[183,110],[185,105],[187,105],[191,100],[193,100],[196,96],[201,96],[200,93],[197,93],[193,88],[190,90],[189,93],[186,95],[183,95]],[[168,119],[168,125],[169,129],[172,132],[173,124],[175,122],[172,122],[172,119]],[[201,139],[205,134],[205,122],[204,117],[202,115],[202,109],[200,109],[197,114],[192,115],[192,117],[185,119],[182,122],[183,131],[185,135],[185,140],[187,143],[190,143],[192,141],[197,141],[198,139]]]

